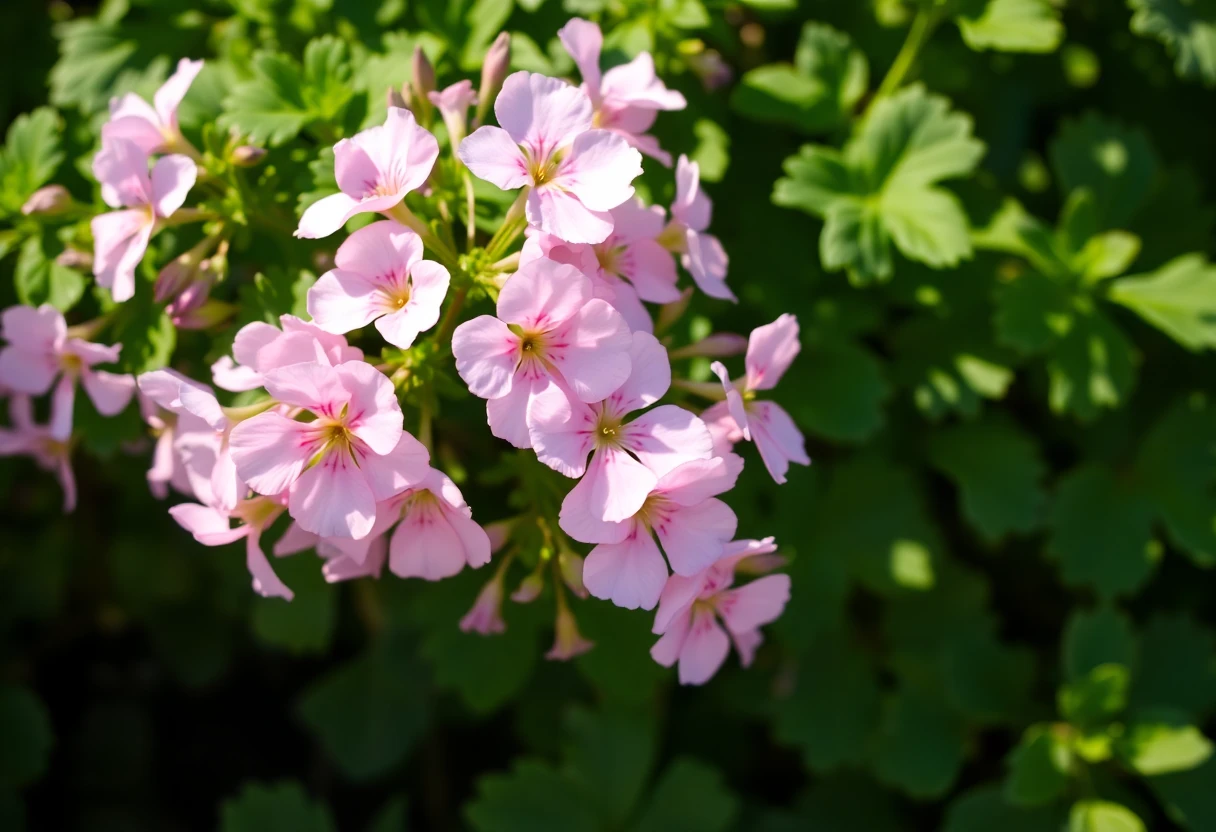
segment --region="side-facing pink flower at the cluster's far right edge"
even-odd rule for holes
[[[756,327],[748,338],[748,354],[744,359],[747,376],[742,378],[743,390],[731,382],[730,375],[721,361],[710,365],[722,382],[726,401],[715,404],[705,411],[706,422],[725,425],[725,417],[738,429],[738,434],[728,431],[720,442],[732,442],[736,435],[753,439],[764,466],[778,483],[786,482],[786,472],[790,462],[810,465],[806,455],[803,433],[784,410],[773,401],[756,401],[758,390],[769,390],[777,386],[786,375],[790,362],[798,355],[801,345],[798,343],[798,319],[784,314],[772,324]],[[719,428],[721,429],[721,427]]]

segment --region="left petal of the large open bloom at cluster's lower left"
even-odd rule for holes
[[[258,494],[281,494],[316,452],[313,433],[308,425],[276,412],[244,420],[229,437],[237,473]]]

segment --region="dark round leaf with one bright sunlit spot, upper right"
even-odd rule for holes
[[[1148,136],[1092,113],[1065,122],[1049,153],[1060,192],[1088,189],[1103,229],[1127,227],[1158,168]]]

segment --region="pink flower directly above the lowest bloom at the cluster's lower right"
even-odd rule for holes
[[[620,523],[601,521],[570,491],[562,504],[562,530],[597,544],[582,563],[587,591],[618,607],[653,609],[668,580],[663,553],[677,575],[711,566],[738,523],[715,495],[733,488],[741,470],[722,457],[685,462],[660,477],[637,512]]]

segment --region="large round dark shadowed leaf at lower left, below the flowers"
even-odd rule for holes
[[[412,654],[378,643],[313,682],[297,705],[351,780],[400,763],[427,725],[427,681]]]

